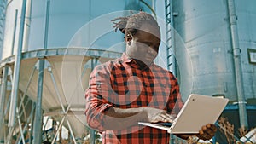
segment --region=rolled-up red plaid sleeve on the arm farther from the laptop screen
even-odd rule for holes
[[[90,74],[89,87],[85,91],[85,116],[87,124],[96,130],[104,129],[106,110],[112,107],[108,101],[111,91],[109,91],[109,75],[104,66],[96,66]]]

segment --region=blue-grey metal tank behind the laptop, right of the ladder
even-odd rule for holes
[[[191,83],[181,84],[183,94],[221,95],[229,98],[227,110],[234,110],[229,116],[230,121],[236,125],[239,125],[237,105],[243,103],[248,113],[249,127],[255,127],[256,66],[249,63],[247,51],[256,49],[256,1],[234,1],[236,15],[230,15],[228,2],[232,1],[172,1],[173,27],[176,31],[175,55],[177,69],[180,69],[177,77],[191,79]],[[232,25],[237,27],[238,39],[235,43],[239,45],[235,47],[241,59],[241,68],[234,62],[236,56],[233,53],[230,17],[236,21]],[[180,38],[182,43],[177,42]],[[184,55],[183,51],[188,55]],[[179,60],[190,61],[191,65],[187,67],[190,75],[181,71],[183,65],[179,65]],[[236,82],[237,69],[241,70],[242,78],[239,88],[236,86],[240,84]],[[244,89],[242,96],[245,101],[239,100],[237,89]]]

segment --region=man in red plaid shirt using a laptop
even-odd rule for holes
[[[126,50],[91,73],[85,93],[87,123],[102,132],[102,143],[168,143],[166,130],[137,124],[172,123],[183,107],[177,79],[154,64],[160,27],[144,12],[116,20],[114,27],[125,33]],[[207,124],[196,136],[208,140],[215,132],[216,127]],[[188,139],[191,135],[177,136]]]

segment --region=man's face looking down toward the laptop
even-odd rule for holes
[[[144,24],[131,39],[126,39],[126,54],[133,59],[150,65],[158,55],[160,30],[156,26]]]

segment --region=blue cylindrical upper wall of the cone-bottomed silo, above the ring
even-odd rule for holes
[[[150,9],[139,1],[117,1],[117,0],[75,0],[73,2],[64,0],[49,1],[49,28],[48,28],[48,39],[47,39],[47,49],[67,47],[71,40],[73,39],[76,32],[79,29],[83,31],[90,32],[86,37],[82,39],[80,46],[90,46],[93,43],[94,49],[106,49],[113,44],[119,43],[123,40],[122,35],[117,32],[114,33],[113,29],[108,29],[104,33],[104,37],[97,37],[97,39],[92,39],[95,37],[94,33],[102,31],[102,26],[105,28],[112,27],[110,20],[115,18],[115,16],[121,16],[119,14],[125,15],[129,14],[129,10],[140,10],[150,12]],[[146,1],[147,2],[147,1]],[[151,1],[147,2],[151,5]],[[5,27],[5,43],[3,49],[3,59],[8,57],[12,51],[13,40],[18,40],[18,33],[20,31],[20,11],[21,11],[22,1],[11,1],[7,9],[7,25]],[[27,0],[26,9],[31,11],[31,14],[26,15],[26,26],[25,35],[29,34],[28,39],[24,39],[23,51],[31,51],[36,49],[44,48],[44,31],[45,31],[45,19],[46,19],[46,4],[47,1],[37,0],[30,3]],[[15,9],[18,10],[18,18],[15,21]],[[124,10],[127,10],[124,12]],[[108,16],[104,16],[108,14]],[[105,23],[97,24],[89,23],[90,20],[102,19]],[[14,24],[18,26],[15,26]],[[87,25],[87,26],[85,26]],[[85,26],[85,27],[84,27]],[[28,32],[27,32],[28,31]],[[14,32],[16,36],[14,37]],[[28,36],[26,36],[28,37]],[[85,36],[84,36],[85,37]],[[112,38],[108,38],[112,37]],[[94,40],[100,41],[95,42]],[[27,41],[27,42],[26,42]],[[17,42],[14,43],[14,54],[17,49]],[[117,49],[118,51],[123,51],[123,49]]]

